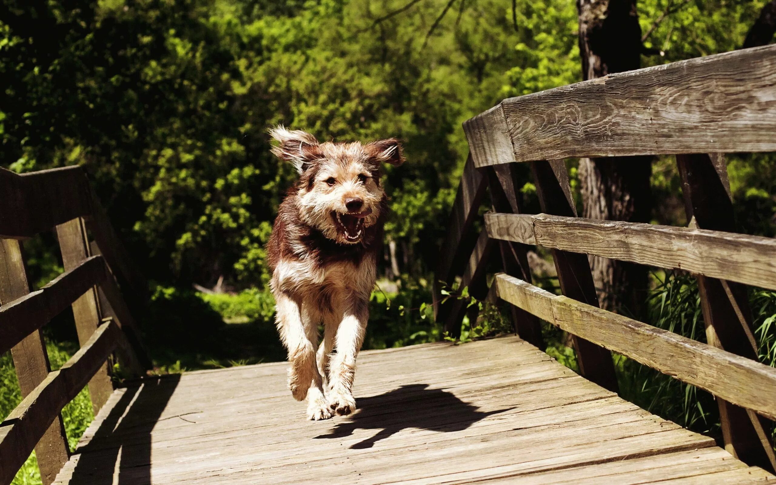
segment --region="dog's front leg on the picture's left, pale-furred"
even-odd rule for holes
[[[317,323],[293,296],[281,293],[275,300],[280,337],[289,352],[289,390],[296,400],[307,397],[309,419],[328,419],[333,411],[327,407],[323,379],[315,362]]]

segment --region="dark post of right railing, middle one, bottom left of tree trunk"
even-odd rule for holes
[[[532,161],[531,171],[542,212],[554,216],[577,217],[571,198],[569,176],[563,161]],[[553,260],[563,295],[599,307],[587,255],[553,249]],[[611,352],[591,341],[572,335],[577,349],[580,374],[608,390],[617,392],[615,365]]]

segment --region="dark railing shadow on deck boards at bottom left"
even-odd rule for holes
[[[128,386],[95,431],[94,438],[101,438],[102,452],[94,452],[94,438],[76,451],[81,456],[71,482],[93,485],[151,483],[151,431],[161,421],[161,414],[180,378],[179,374],[146,378]]]

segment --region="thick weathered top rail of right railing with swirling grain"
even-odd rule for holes
[[[504,99],[464,123],[483,167],[569,157],[776,151],[776,46]],[[509,141],[511,140],[511,144]],[[511,148],[513,155],[504,151]]]

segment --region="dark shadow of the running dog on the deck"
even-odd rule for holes
[[[350,447],[365,449],[407,428],[463,431],[491,414],[509,411],[477,411],[476,406],[463,402],[448,391],[428,389],[428,384],[401,386],[378,396],[359,398],[356,404],[359,410],[348,417],[348,421],[336,424],[327,435],[315,438],[345,438],[356,429],[379,429],[376,435]]]

